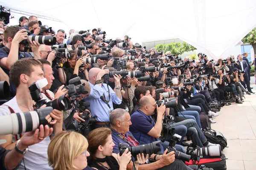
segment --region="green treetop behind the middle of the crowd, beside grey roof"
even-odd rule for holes
[[[171,51],[171,54],[177,56],[179,54],[183,54],[184,52],[187,51],[194,51],[196,50],[195,47],[193,47],[192,45],[189,45],[186,42],[183,42],[182,44],[180,42],[172,42],[169,44],[157,44],[155,46],[157,51],[164,51],[166,53],[166,51]]]

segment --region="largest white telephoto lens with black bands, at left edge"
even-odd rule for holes
[[[40,125],[48,125],[45,117],[52,112],[52,107],[39,108],[35,111],[12,113],[1,116],[0,136],[31,132],[38,129]]]

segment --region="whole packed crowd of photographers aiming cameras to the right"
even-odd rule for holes
[[[65,41],[35,16],[0,20],[0,35],[0,81],[12,97],[0,106],[3,170],[191,170],[186,140],[218,146],[199,114],[254,94],[247,53],[182,60],[100,29],[71,29]]]

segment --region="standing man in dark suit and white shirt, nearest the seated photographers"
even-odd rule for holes
[[[237,63],[238,63],[239,65],[236,65],[236,68],[238,68],[239,70],[245,72],[245,73],[244,73],[244,83],[243,83],[244,88],[247,87],[247,90],[248,90],[250,93],[253,93],[253,94],[254,94],[254,92],[252,92],[252,90],[251,90],[251,88],[250,88],[250,81],[249,81],[248,75],[247,75],[247,70],[249,69],[249,67],[248,67],[247,62],[244,61],[242,58],[243,58],[243,57],[242,57],[241,54],[239,54],[239,55],[237,56],[237,59],[238,59],[238,60],[237,60]],[[245,84],[246,84],[246,85],[245,85]]]

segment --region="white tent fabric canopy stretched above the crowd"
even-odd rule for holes
[[[0,5],[62,20],[43,24],[68,31],[102,28],[107,38],[132,42],[180,38],[213,59],[222,58],[256,27],[256,0],[0,0]],[[14,14],[10,25],[22,15]]]

